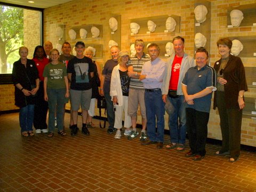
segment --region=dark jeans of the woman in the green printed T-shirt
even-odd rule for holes
[[[49,107],[49,132],[54,132],[55,110],[57,116],[58,131],[63,130],[64,126],[64,105],[66,89],[47,89]]]

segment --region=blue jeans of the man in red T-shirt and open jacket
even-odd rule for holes
[[[173,106],[172,114],[169,114],[169,130],[171,142],[185,144],[186,142],[186,104],[184,102],[184,96],[180,95],[179,98],[170,98],[171,105]],[[178,122],[179,118],[179,122]]]

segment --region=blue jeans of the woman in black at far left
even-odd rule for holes
[[[33,131],[33,120],[34,120],[34,108],[35,105],[27,105],[26,107],[20,108],[20,127],[21,132]]]

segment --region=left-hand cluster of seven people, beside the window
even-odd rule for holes
[[[69,98],[70,101],[73,99],[70,115],[71,135],[77,134],[77,114],[80,105],[83,114],[82,132],[90,134],[87,127],[93,126],[92,116],[95,107],[91,100],[95,103],[95,98],[99,95],[93,77],[99,76],[99,65],[91,60],[95,54],[93,47],[87,47],[85,50],[83,42],[77,42],[75,47],[76,57],[70,54],[71,46],[68,42],[63,43],[63,54],[60,55],[57,49],[53,49],[52,43],[47,41],[44,46],[35,48],[32,60],[27,58],[27,47],[20,47],[20,59],[14,62],[12,79],[15,85],[15,105],[20,107],[19,119],[23,137],[34,135],[33,123],[38,134],[43,132],[48,133],[48,137],[53,137],[54,128],[57,126],[58,133],[66,135],[63,123],[65,104]],[[95,73],[97,75],[94,75]],[[93,86],[96,89],[92,89]],[[85,99],[82,94],[86,95]]]

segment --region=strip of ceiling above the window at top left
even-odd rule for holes
[[[14,5],[22,5],[22,6],[29,6],[29,7],[36,7],[36,8],[41,8],[45,9],[47,7],[67,3],[73,0],[33,0],[35,3],[28,3],[29,0],[1,0],[1,3],[10,3]]]

